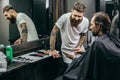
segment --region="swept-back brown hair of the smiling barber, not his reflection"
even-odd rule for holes
[[[73,8],[72,8],[73,10],[76,10],[76,11],[78,11],[78,12],[85,12],[86,11],[86,6],[85,6],[85,4],[84,3],[82,3],[82,2],[75,2],[74,4],[73,4]]]

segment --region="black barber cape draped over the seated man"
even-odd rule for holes
[[[56,80],[120,80],[120,41],[109,33],[98,37]]]

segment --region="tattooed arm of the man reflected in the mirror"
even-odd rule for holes
[[[20,40],[21,40],[21,43],[24,43],[27,41],[27,35],[28,35],[26,23],[22,23],[20,27],[22,29]]]

